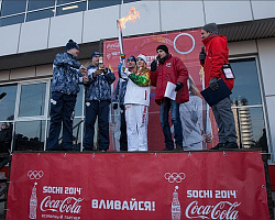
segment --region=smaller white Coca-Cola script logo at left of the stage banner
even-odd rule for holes
[[[41,211],[54,211],[65,213],[80,213],[81,206],[79,205],[84,199],[67,197],[64,200],[52,199],[51,196],[45,197],[41,205]]]

